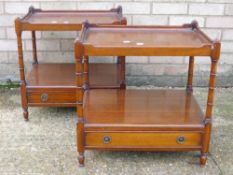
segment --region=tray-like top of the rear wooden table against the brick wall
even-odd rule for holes
[[[125,18],[122,17],[120,6],[110,10],[41,10],[30,7],[21,23],[25,30],[62,30],[72,28],[73,25],[80,30],[85,21],[94,24],[120,24],[122,20]]]

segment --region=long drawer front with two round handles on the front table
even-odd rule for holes
[[[87,147],[199,147],[197,132],[89,132]]]

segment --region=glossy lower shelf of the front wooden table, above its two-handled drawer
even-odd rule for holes
[[[84,96],[88,131],[198,130],[204,115],[185,90],[90,90]]]

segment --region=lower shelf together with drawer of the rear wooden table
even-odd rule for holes
[[[120,88],[120,65],[90,64],[89,69],[90,88]],[[76,105],[74,64],[33,65],[26,81],[29,106]]]

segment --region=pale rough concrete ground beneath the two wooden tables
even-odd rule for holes
[[[147,87],[153,88],[153,87]],[[195,88],[203,109],[207,89]],[[86,151],[78,167],[74,108],[30,108],[25,122],[19,89],[0,89],[0,175],[233,175],[233,88],[217,89],[208,163],[199,152]]]

